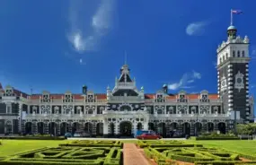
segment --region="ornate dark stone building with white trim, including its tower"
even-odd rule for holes
[[[3,88],[0,83],[0,134],[65,135],[81,130],[96,136],[130,136],[138,129],[151,129],[163,136],[172,130],[181,135],[225,133],[232,128],[230,112],[234,109],[240,111],[239,122],[253,120],[248,50],[241,44],[235,45],[236,41],[246,45],[248,38],[228,39],[217,49],[216,94],[171,94],[167,85],[147,94],[143,87],[137,89],[128,65],[121,67],[115,87],[107,87],[106,93],[87,91],[84,86],[83,94],[43,91],[28,95],[12,86]],[[242,58],[238,57],[238,47]]]

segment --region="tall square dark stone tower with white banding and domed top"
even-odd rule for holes
[[[225,113],[240,111],[240,118],[248,123],[251,118],[249,104],[249,39],[237,36],[237,29],[227,29],[227,40],[218,46],[217,91],[223,100]]]

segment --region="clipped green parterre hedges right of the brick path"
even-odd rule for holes
[[[154,159],[158,165],[173,164],[173,161],[197,165],[256,164],[256,156],[207,148],[186,141],[138,141],[137,146],[144,148],[146,156]]]

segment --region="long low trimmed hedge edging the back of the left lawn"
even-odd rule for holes
[[[0,138],[9,140],[65,140],[63,136],[2,136]]]

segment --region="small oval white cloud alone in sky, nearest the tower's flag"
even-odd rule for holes
[[[186,33],[189,36],[199,36],[202,35],[205,31],[207,22],[192,22],[186,28]]]

